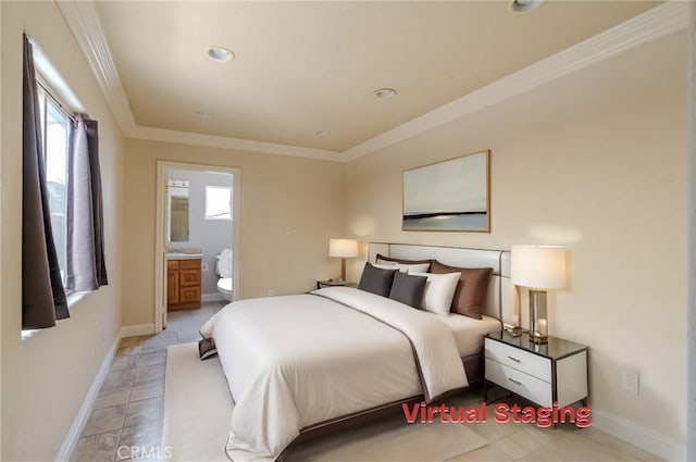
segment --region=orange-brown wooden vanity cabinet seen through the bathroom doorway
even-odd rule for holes
[[[166,308],[200,308],[200,259],[166,262]]]

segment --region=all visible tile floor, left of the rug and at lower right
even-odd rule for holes
[[[166,348],[173,344],[198,340],[200,326],[223,304],[204,303],[199,310],[172,312],[166,330],[160,335],[121,341],[72,461],[159,460],[156,457],[141,457],[152,453],[130,451],[132,448],[147,451],[147,448],[157,450],[160,447]],[[450,405],[480,405],[481,401],[481,390],[474,390],[455,398]],[[488,412],[494,415],[493,408]],[[486,424],[469,426],[488,445],[449,462],[661,461],[593,427],[581,429],[566,424],[549,429],[537,428],[533,424],[498,424],[492,419]]]

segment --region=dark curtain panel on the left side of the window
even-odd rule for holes
[[[34,55],[26,36],[23,89],[22,328],[37,329],[70,315],[51,229]]]

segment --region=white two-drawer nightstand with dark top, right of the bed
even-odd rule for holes
[[[484,401],[490,384],[502,387],[538,405],[559,407],[585,400],[587,350],[584,345],[549,337],[548,344],[530,341],[527,333],[513,337],[506,330],[484,339]]]

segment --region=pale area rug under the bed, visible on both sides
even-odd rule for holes
[[[195,342],[169,348],[162,447],[172,461],[227,461],[233,403],[216,358]],[[402,415],[302,444],[284,462],[444,462],[486,445],[463,424],[408,424]]]

